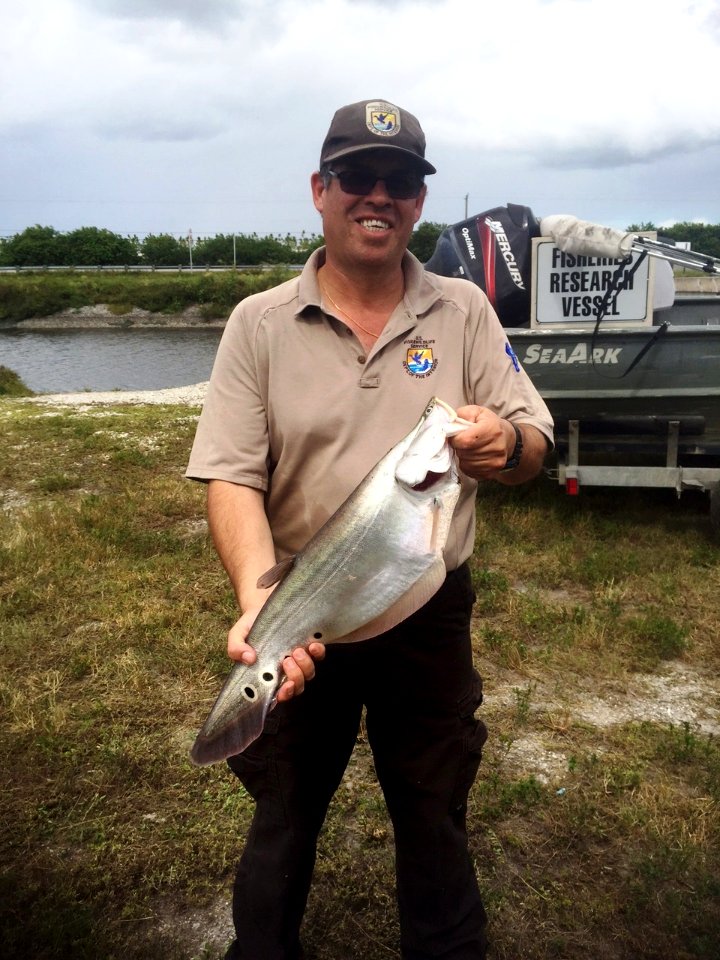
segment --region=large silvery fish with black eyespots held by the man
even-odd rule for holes
[[[276,703],[282,661],[313,640],[370,639],[407,619],[445,580],[443,548],[460,494],[449,437],[471,424],[432,397],[422,416],[382,457],[295,556],[258,580],[277,584],[247,642],[253,664],[236,663],[190,751],[198,766],[242,753]]]

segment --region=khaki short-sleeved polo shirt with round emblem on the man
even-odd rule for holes
[[[403,260],[405,296],[366,355],[320,309],[316,251],[302,274],[233,310],[186,475],[267,491],[277,558],[297,553],[420,418],[430,397],[489,407],[552,442],[552,418],[517,364],[485,294]],[[475,533],[474,480],[445,549],[449,570]]]

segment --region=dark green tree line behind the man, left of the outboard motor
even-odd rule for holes
[[[422,223],[414,232],[410,249],[428,260],[445,224]],[[217,234],[190,242],[169,233],[148,234],[142,240],[99,227],[80,227],[61,233],[36,224],[0,241],[0,266],[5,267],[232,267],[305,263],[321,246],[317,234],[258,236]],[[192,258],[192,260],[191,260]]]

